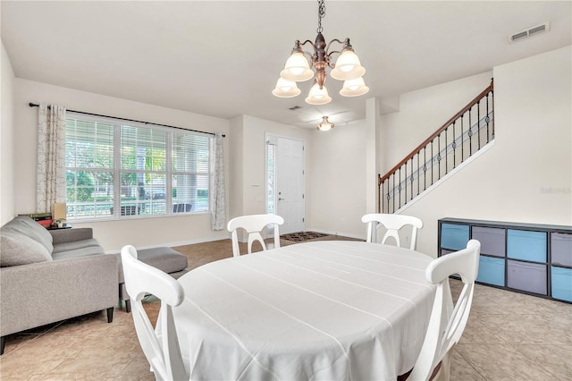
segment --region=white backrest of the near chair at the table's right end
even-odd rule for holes
[[[458,343],[467,326],[479,270],[480,252],[481,242],[471,240],[467,243],[467,249],[433,259],[425,269],[425,279],[429,283],[437,284],[437,291],[425,341],[408,380],[430,379],[433,369],[441,361],[440,371],[444,373],[440,379],[449,379],[450,349]],[[449,287],[449,276],[453,274],[460,275],[463,282],[463,290],[454,308]]]

